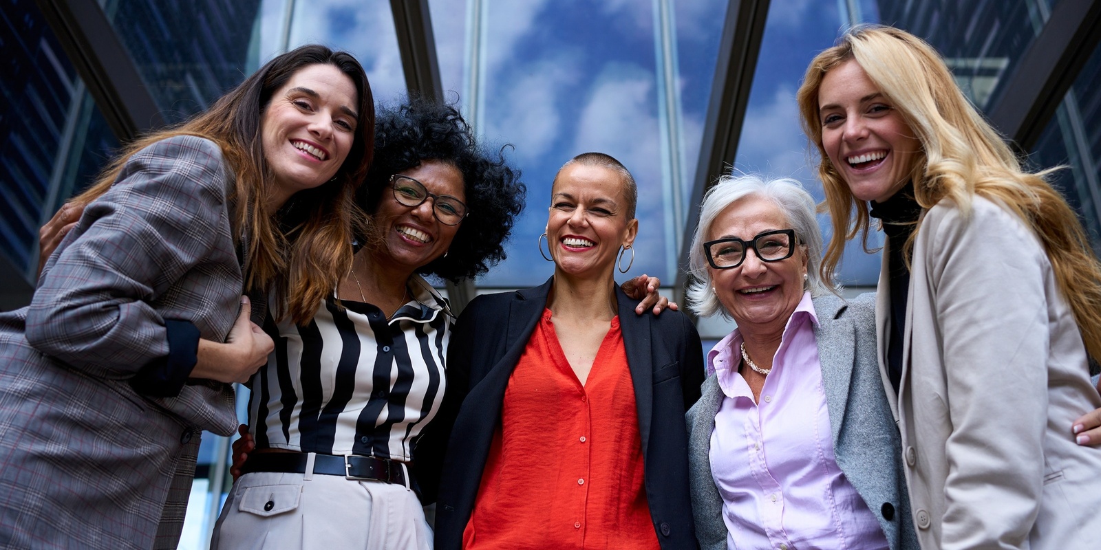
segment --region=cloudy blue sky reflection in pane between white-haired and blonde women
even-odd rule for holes
[[[737,170],[795,177],[818,200],[824,200],[825,195],[814,168],[817,155],[808,155],[795,92],[810,59],[833,45],[850,21],[849,13],[839,10],[842,4],[820,0],[772,0],[734,161]],[[863,12],[853,19],[875,20],[873,2],[859,2],[859,6]],[[819,223],[828,239],[829,217],[819,215]],[[882,237],[876,233],[869,243],[877,246]],[[841,279],[846,284],[874,286],[879,270],[879,254],[865,254],[859,243],[849,243],[841,266]]]

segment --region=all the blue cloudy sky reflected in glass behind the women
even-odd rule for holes
[[[262,0],[258,24],[259,62],[282,50],[288,0]],[[667,141],[659,110],[662,81],[655,53],[653,2],[637,0],[483,0],[482,48],[470,54],[470,8],[475,0],[430,0],[433,29],[445,97],[458,101],[489,144],[510,143],[511,162],[528,186],[527,209],[508,244],[509,260],[479,280],[483,286],[530,286],[550,274],[535,246],[546,224],[550,183],[571,156],[600,151],[619,158],[640,186],[639,238],[631,275],[648,273],[665,282],[679,238],[671,234]],[[320,42],[352,52],[363,64],[377,101],[394,101],[405,84],[390,2],[294,0],[288,45]],[[734,165],[746,172],[794,175],[821,198],[809,169],[798,125],[795,90],[806,64],[832,44],[842,29],[840,6],[852,2],[773,0],[757,74]],[[874,2],[860,0],[864,20]],[[687,196],[698,162],[700,138],[727,2],[672,2],[680,100],[680,162]],[[477,98],[468,73],[481,67]],[[477,100],[477,105],[473,101]],[[663,160],[663,155],[666,158]],[[472,205],[477,208],[477,205]],[[697,208],[686,205],[685,208]],[[822,218],[824,228],[828,222]],[[875,243],[879,242],[876,237]],[[855,248],[857,250],[859,248]],[[846,256],[850,284],[875,283],[877,256]],[[858,274],[859,276],[855,276]]]

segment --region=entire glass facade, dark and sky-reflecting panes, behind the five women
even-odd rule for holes
[[[168,123],[210,106],[272,56],[306,43],[351,52],[377,102],[406,95],[391,2],[360,0],[99,0],[144,90]],[[413,2],[416,3],[416,2]],[[523,170],[527,209],[509,258],[482,289],[534,286],[550,273],[536,249],[558,167],[586,151],[622,161],[640,187],[640,233],[628,275],[676,279],[704,150],[704,128],[729,2],[721,0],[428,0],[446,100]],[[1045,30],[1058,0],[772,0],[749,95],[735,170],[821,186],[799,128],[795,91],[809,59],[840,32],[882,22],[928,40],[971,100],[991,112]],[[53,30],[31,0],[0,0],[0,272],[32,288],[37,229],[119,146]],[[1101,50],[1094,51],[1029,151],[1101,251]],[[826,216],[820,218],[827,235]],[[882,238],[873,235],[871,244]],[[875,285],[879,254],[850,243],[842,282]],[[0,284],[9,278],[0,278]],[[707,321],[713,322],[713,321]],[[702,322],[705,338],[726,324]],[[246,402],[241,399],[241,407]],[[228,488],[228,440],[204,438],[182,548],[206,544]]]

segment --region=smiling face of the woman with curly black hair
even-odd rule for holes
[[[399,174],[416,179],[433,195],[448,195],[466,202],[462,173],[454,165],[423,161],[419,166]],[[412,274],[447,252],[462,223],[440,223],[433,213],[434,204],[429,197],[419,206],[404,206],[394,199],[393,189],[388,185],[372,217],[382,239],[382,246],[377,252],[381,257],[375,265],[393,266]]]

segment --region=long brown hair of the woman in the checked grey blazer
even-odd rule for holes
[[[272,95],[310,65],[333,65],[356,85],[359,120],[351,151],[331,180],[298,191],[279,212],[270,215],[264,209],[273,175],[264,158],[261,122]],[[229,195],[230,227],[236,244],[243,241],[248,249],[242,268],[244,289],[273,290],[276,319],[290,316],[298,324],[308,322],[351,266],[353,198],[374,151],[374,98],[363,67],[351,54],[321,45],[279,55],[207,111],[127,145],[70,202],[91,202],[115,183],[131,155],[182,134],[217,143],[236,176]]]

